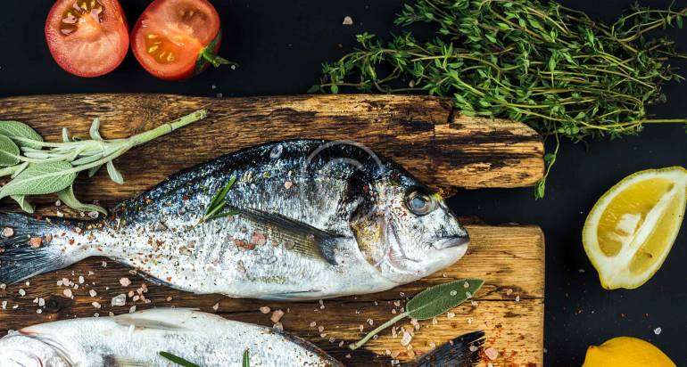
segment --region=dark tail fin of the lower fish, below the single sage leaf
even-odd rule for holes
[[[480,362],[480,350],[484,344],[484,331],[473,331],[454,338],[435,350],[422,355],[402,367],[474,367]]]

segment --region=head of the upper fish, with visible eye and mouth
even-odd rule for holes
[[[468,249],[468,232],[442,197],[393,163],[353,184],[350,226],[360,252],[386,279],[402,284],[449,266]]]

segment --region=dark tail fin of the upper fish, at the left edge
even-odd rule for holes
[[[71,265],[73,261],[51,243],[65,228],[50,220],[0,213],[0,282],[12,284]]]

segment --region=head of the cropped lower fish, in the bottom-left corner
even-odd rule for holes
[[[15,331],[0,338],[0,365],[7,367],[69,367],[73,365],[54,341]]]

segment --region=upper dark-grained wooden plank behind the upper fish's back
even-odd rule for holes
[[[512,121],[454,116],[449,101],[428,96],[37,95],[0,99],[0,119],[25,122],[54,141],[61,139],[63,126],[87,136],[98,117],[104,137],[121,138],[200,108],[210,110],[205,120],[118,159],[126,185],[112,183],[101,172],[94,184],[79,185],[80,197],[125,199],[182,168],[259,143],[295,138],[363,143],[447,192],[532,185],[543,174],[542,140],[534,130]]]

